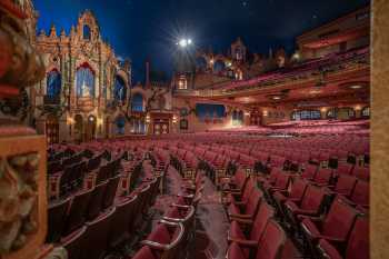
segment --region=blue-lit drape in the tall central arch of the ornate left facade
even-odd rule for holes
[[[76,72],[78,97],[94,98],[94,73],[88,66],[81,66]]]

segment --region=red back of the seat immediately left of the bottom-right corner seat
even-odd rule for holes
[[[357,215],[355,208],[340,199],[335,199],[325,219],[322,233],[346,241]]]

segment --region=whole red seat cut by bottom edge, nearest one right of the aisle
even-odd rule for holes
[[[270,220],[259,242],[233,240],[227,251],[227,259],[248,259],[243,248],[250,249],[250,255],[256,259],[279,259],[286,242],[286,235],[282,228],[273,220]]]

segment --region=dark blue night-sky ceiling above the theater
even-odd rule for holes
[[[172,71],[178,37],[196,48],[226,51],[241,37],[253,52],[295,48],[296,36],[370,3],[370,0],[34,0],[38,30],[69,32],[78,14],[90,9],[102,36],[120,57],[133,61],[134,80],[143,79],[143,63]]]

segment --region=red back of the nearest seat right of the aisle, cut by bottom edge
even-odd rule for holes
[[[286,240],[283,229],[270,219],[259,241],[256,259],[280,259]]]

